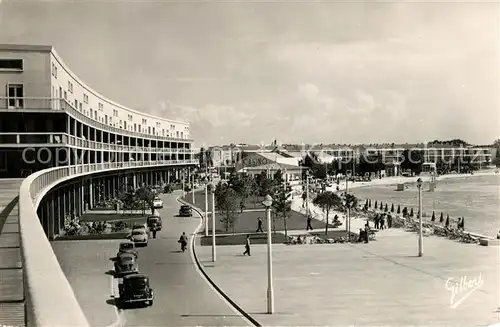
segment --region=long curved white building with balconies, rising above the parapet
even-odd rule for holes
[[[0,45],[0,84],[0,178],[64,165],[196,163],[188,122],[105,98],[51,46]]]

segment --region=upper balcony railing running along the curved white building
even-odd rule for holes
[[[126,135],[130,137],[137,137],[143,139],[151,139],[151,140],[162,140],[167,142],[193,142],[192,139],[185,138],[176,138],[176,137],[167,137],[161,135],[152,135],[140,132],[132,132],[123,128],[116,128],[114,126],[109,126],[103,124],[89,116],[84,115],[77,108],[75,108],[71,103],[69,103],[65,99],[54,99],[54,98],[8,98],[8,97],[0,97],[0,110],[1,109],[9,109],[9,110],[34,110],[34,111],[50,111],[50,110],[59,110],[65,111],[70,116],[79,120],[80,122],[96,128],[98,130],[106,131],[108,133]],[[162,119],[158,117],[158,119]],[[123,119],[122,119],[123,120]],[[167,120],[168,122],[168,120]]]

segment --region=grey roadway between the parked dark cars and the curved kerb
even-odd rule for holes
[[[126,326],[247,326],[199,275],[190,253],[179,252],[180,234],[192,237],[200,221],[174,217],[180,206],[175,194],[161,196],[163,230],[139,249],[139,268],[151,278],[155,303],[125,310]]]

